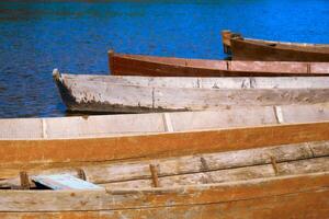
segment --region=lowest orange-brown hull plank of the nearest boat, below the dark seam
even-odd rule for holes
[[[302,194],[286,194],[254,199],[238,200],[232,203],[214,203],[207,205],[185,205],[162,208],[140,208],[125,210],[99,211],[54,211],[54,212],[0,212],[4,219],[16,218],[92,218],[92,219],[121,219],[125,218],[243,218],[243,219],[276,219],[280,218],[326,218],[328,209],[328,189],[309,191]]]

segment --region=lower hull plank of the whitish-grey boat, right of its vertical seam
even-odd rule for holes
[[[180,95],[178,95],[180,93]],[[125,96],[125,95],[123,95]],[[205,111],[229,106],[272,106],[327,102],[326,90],[190,90],[156,88],[150,111]],[[129,103],[126,103],[127,105]],[[101,107],[95,108],[102,111]]]

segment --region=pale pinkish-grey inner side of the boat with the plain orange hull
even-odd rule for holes
[[[280,120],[277,120],[277,108],[281,112]],[[163,114],[157,113],[0,119],[0,139],[29,140],[109,137],[276,123],[321,122],[329,120],[329,104],[283,105],[274,107],[243,106],[220,111],[166,113],[164,115],[168,115],[166,119]]]

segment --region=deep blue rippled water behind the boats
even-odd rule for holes
[[[66,115],[52,70],[106,74],[110,48],[219,59],[223,28],[329,43],[328,0],[45,2],[0,2],[0,117]]]

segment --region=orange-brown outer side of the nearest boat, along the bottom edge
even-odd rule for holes
[[[0,191],[1,217],[295,218],[328,214],[328,173],[229,184],[107,192]],[[43,215],[44,216],[44,215]]]

